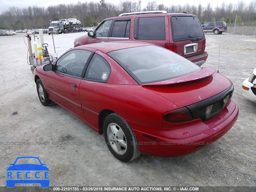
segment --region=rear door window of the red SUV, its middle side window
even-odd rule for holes
[[[131,21],[115,21],[111,37],[130,38]]]

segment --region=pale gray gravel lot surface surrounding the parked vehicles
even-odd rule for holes
[[[55,35],[58,54],[83,34]],[[218,67],[221,46],[219,70],[234,83],[232,99],[240,109],[226,135],[186,156],[141,155],[122,163],[112,156],[103,135],[58,105],[42,106],[23,35],[0,36],[0,186],[6,186],[6,168],[19,156],[38,156],[46,163],[50,186],[255,186],[256,103],[244,98],[241,89],[256,67],[256,37],[206,34],[209,57],[204,65]],[[52,36],[44,38],[52,53]]]

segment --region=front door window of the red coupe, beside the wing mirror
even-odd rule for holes
[[[56,63],[56,71],[75,77],[81,77],[91,52],[86,50],[72,50],[62,56]]]

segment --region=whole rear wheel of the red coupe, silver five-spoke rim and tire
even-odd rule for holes
[[[105,118],[103,134],[108,149],[118,160],[129,162],[140,155],[135,134],[118,114],[112,113]]]

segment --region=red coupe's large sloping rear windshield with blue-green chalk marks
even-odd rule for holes
[[[138,84],[160,82],[184,76],[201,68],[159,46],[141,46],[108,53]]]

